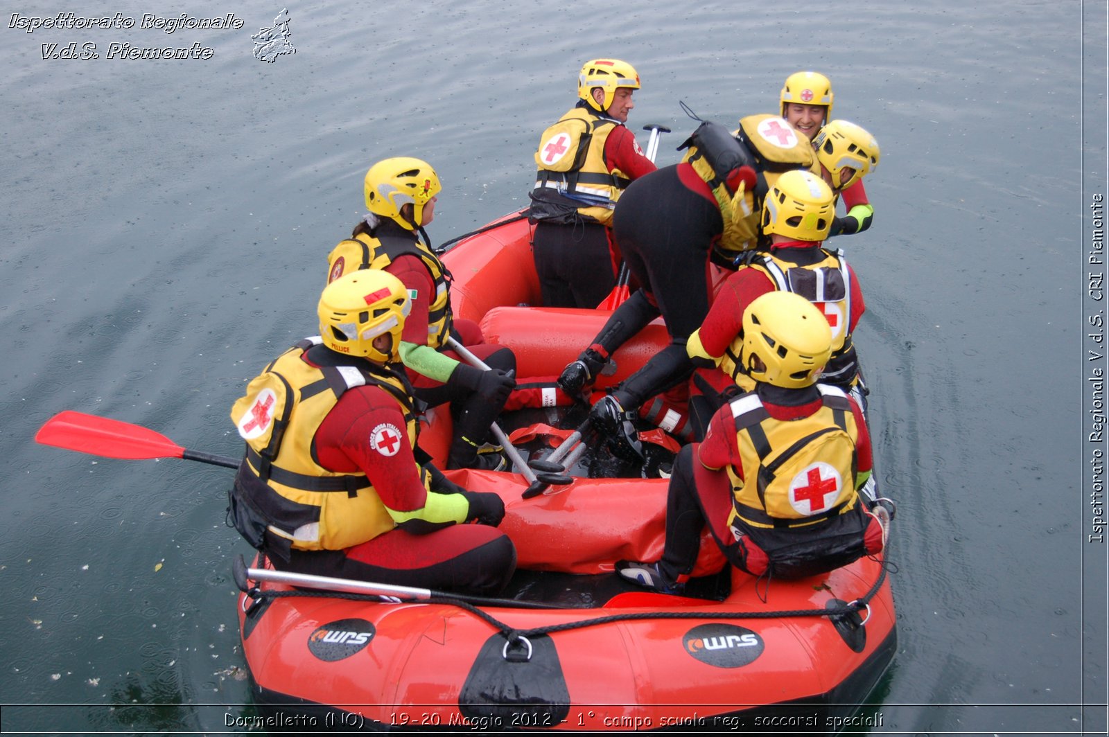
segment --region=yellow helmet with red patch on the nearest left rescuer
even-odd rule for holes
[[[319,296],[319,337],[334,351],[378,364],[396,362],[409,309],[408,290],[397,277],[376,268],[350,272],[328,284]],[[374,340],[385,334],[393,336],[388,352],[374,347]]]

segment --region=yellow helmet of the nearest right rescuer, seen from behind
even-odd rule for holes
[[[743,367],[755,381],[801,389],[816,382],[832,355],[832,328],[813,303],[769,291],[743,313]]]

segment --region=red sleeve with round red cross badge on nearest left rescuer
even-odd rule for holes
[[[427,500],[400,406],[380,387],[346,391],[321,423],[316,458],[329,471],[362,471],[386,506],[420,509]]]

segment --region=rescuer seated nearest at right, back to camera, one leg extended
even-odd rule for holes
[[[869,513],[856,491],[871,472],[862,411],[816,383],[832,351],[821,311],[788,291],[763,295],[732,349],[754,389],[712,417],[703,442],[679,452],[662,559],[617,563],[647,588],[684,590],[705,525],[732,565],[771,580],[816,575],[883,549],[885,510]]]

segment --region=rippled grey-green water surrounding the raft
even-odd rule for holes
[[[94,4],[74,12],[227,12]],[[288,6],[296,53],[272,63],[251,34],[281,4],[172,34],[27,33],[11,13],[69,9],[7,9],[4,734],[221,734],[253,714],[228,473],[44,448],[38,427],[74,409],[237,453],[227,409],[315,331],[368,164],[435,164],[437,242],[517,209],[539,132],[603,55],[639,69],[633,130],[675,131],[660,163],[693,127],[679,100],[733,122],[775,110],[806,68],[882,144],[875,225],[834,244],[866,294],[856,341],[899,502],[901,639],[872,733],[1103,734],[1107,547],[1090,502],[1105,446],[1088,433],[1105,359],[1087,351],[1105,304],[1088,253],[1107,191],[1106,4],[981,4],[303,2]],[[42,58],[72,42],[101,58]],[[109,59],[112,42],[213,52]]]

